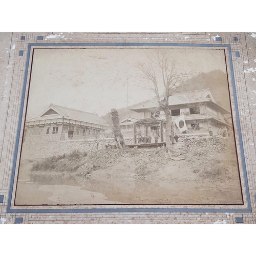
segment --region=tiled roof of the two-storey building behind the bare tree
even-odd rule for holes
[[[171,96],[169,96],[169,106],[191,104],[191,103],[198,103],[198,102],[207,102],[207,101],[212,102],[215,105],[218,105],[215,102],[214,97],[211,95],[211,92],[209,89],[174,93]],[[153,109],[157,107],[158,107],[158,102],[155,97],[154,99],[146,102],[145,104],[137,106],[136,108],[133,108],[131,110],[139,112],[140,110]],[[229,112],[228,110],[225,110],[223,107],[222,109],[225,112]]]

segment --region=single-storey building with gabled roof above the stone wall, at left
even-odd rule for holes
[[[38,117],[26,120],[24,142],[104,138],[109,129],[95,114],[51,104]]]

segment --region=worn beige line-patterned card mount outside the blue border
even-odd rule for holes
[[[25,40],[20,40],[25,36]],[[43,36],[44,40],[37,40]],[[217,38],[221,37],[222,41]],[[234,41],[233,38],[238,40]],[[101,212],[94,213],[8,213],[7,202],[13,165],[16,129],[24,81],[28,43],[67,42],[172,42],[182,44],[228,44],[231,47],[234,79],[239,107],[245,163],[248,176],[252,212]],[[190,33],[1,33],[1,163],[0,203],[2,223],[12,224],[15,218],[27,223],[216,223],[233,224],[236,217],[243,217],[243,223],[256,224],[255,219],[255,84],[256,84],[256,35],[255,33],[190,32]],[[24,51],[19,56],[19,51]],[[236,52],[240,53],[236,57]],[[26,97],[25,97],[26,98]],[[26,103],[26,100],[25,100]],[[236,134],[238,136],[238,134]],[[253,168],[254,167],[254,168]],[[253,170],[254,169],[254,170]],[[243,178],[242,178],[243,180]],[[15,183],[15,182],[14,182]],[[43,207],[42,208],[47,208]],[[48,207],[49,208],[49,207]],[[75,207],[73,207],[75,208]],[[115,208],[115,207],[112,207]],[[147,207],[145,207],[147,208]],[[189,208],[187,206],[186,208]],[[201,208],[200,206],[198,207]],[[72,207],[69,207],[72,211]]]

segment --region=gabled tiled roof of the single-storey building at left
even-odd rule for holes
[[[85,112],[85,111],[75,110],[71,108],[66,108],[66,106],[59,106],[55,104],[51,104],[49,108],[44,112],[42,112],[38,117],[27,120],[27,122],[49,120],[49,119],[56,119],[56,118],[65,118],[65,119],[71,119],[76,121],[109,126],[109,124],[106,124],[104,119],[102,119],[101,117],[95,114]]]

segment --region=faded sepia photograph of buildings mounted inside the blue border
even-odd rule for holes
[[[242,205],[225,50],[34,49],[15,205]]]

